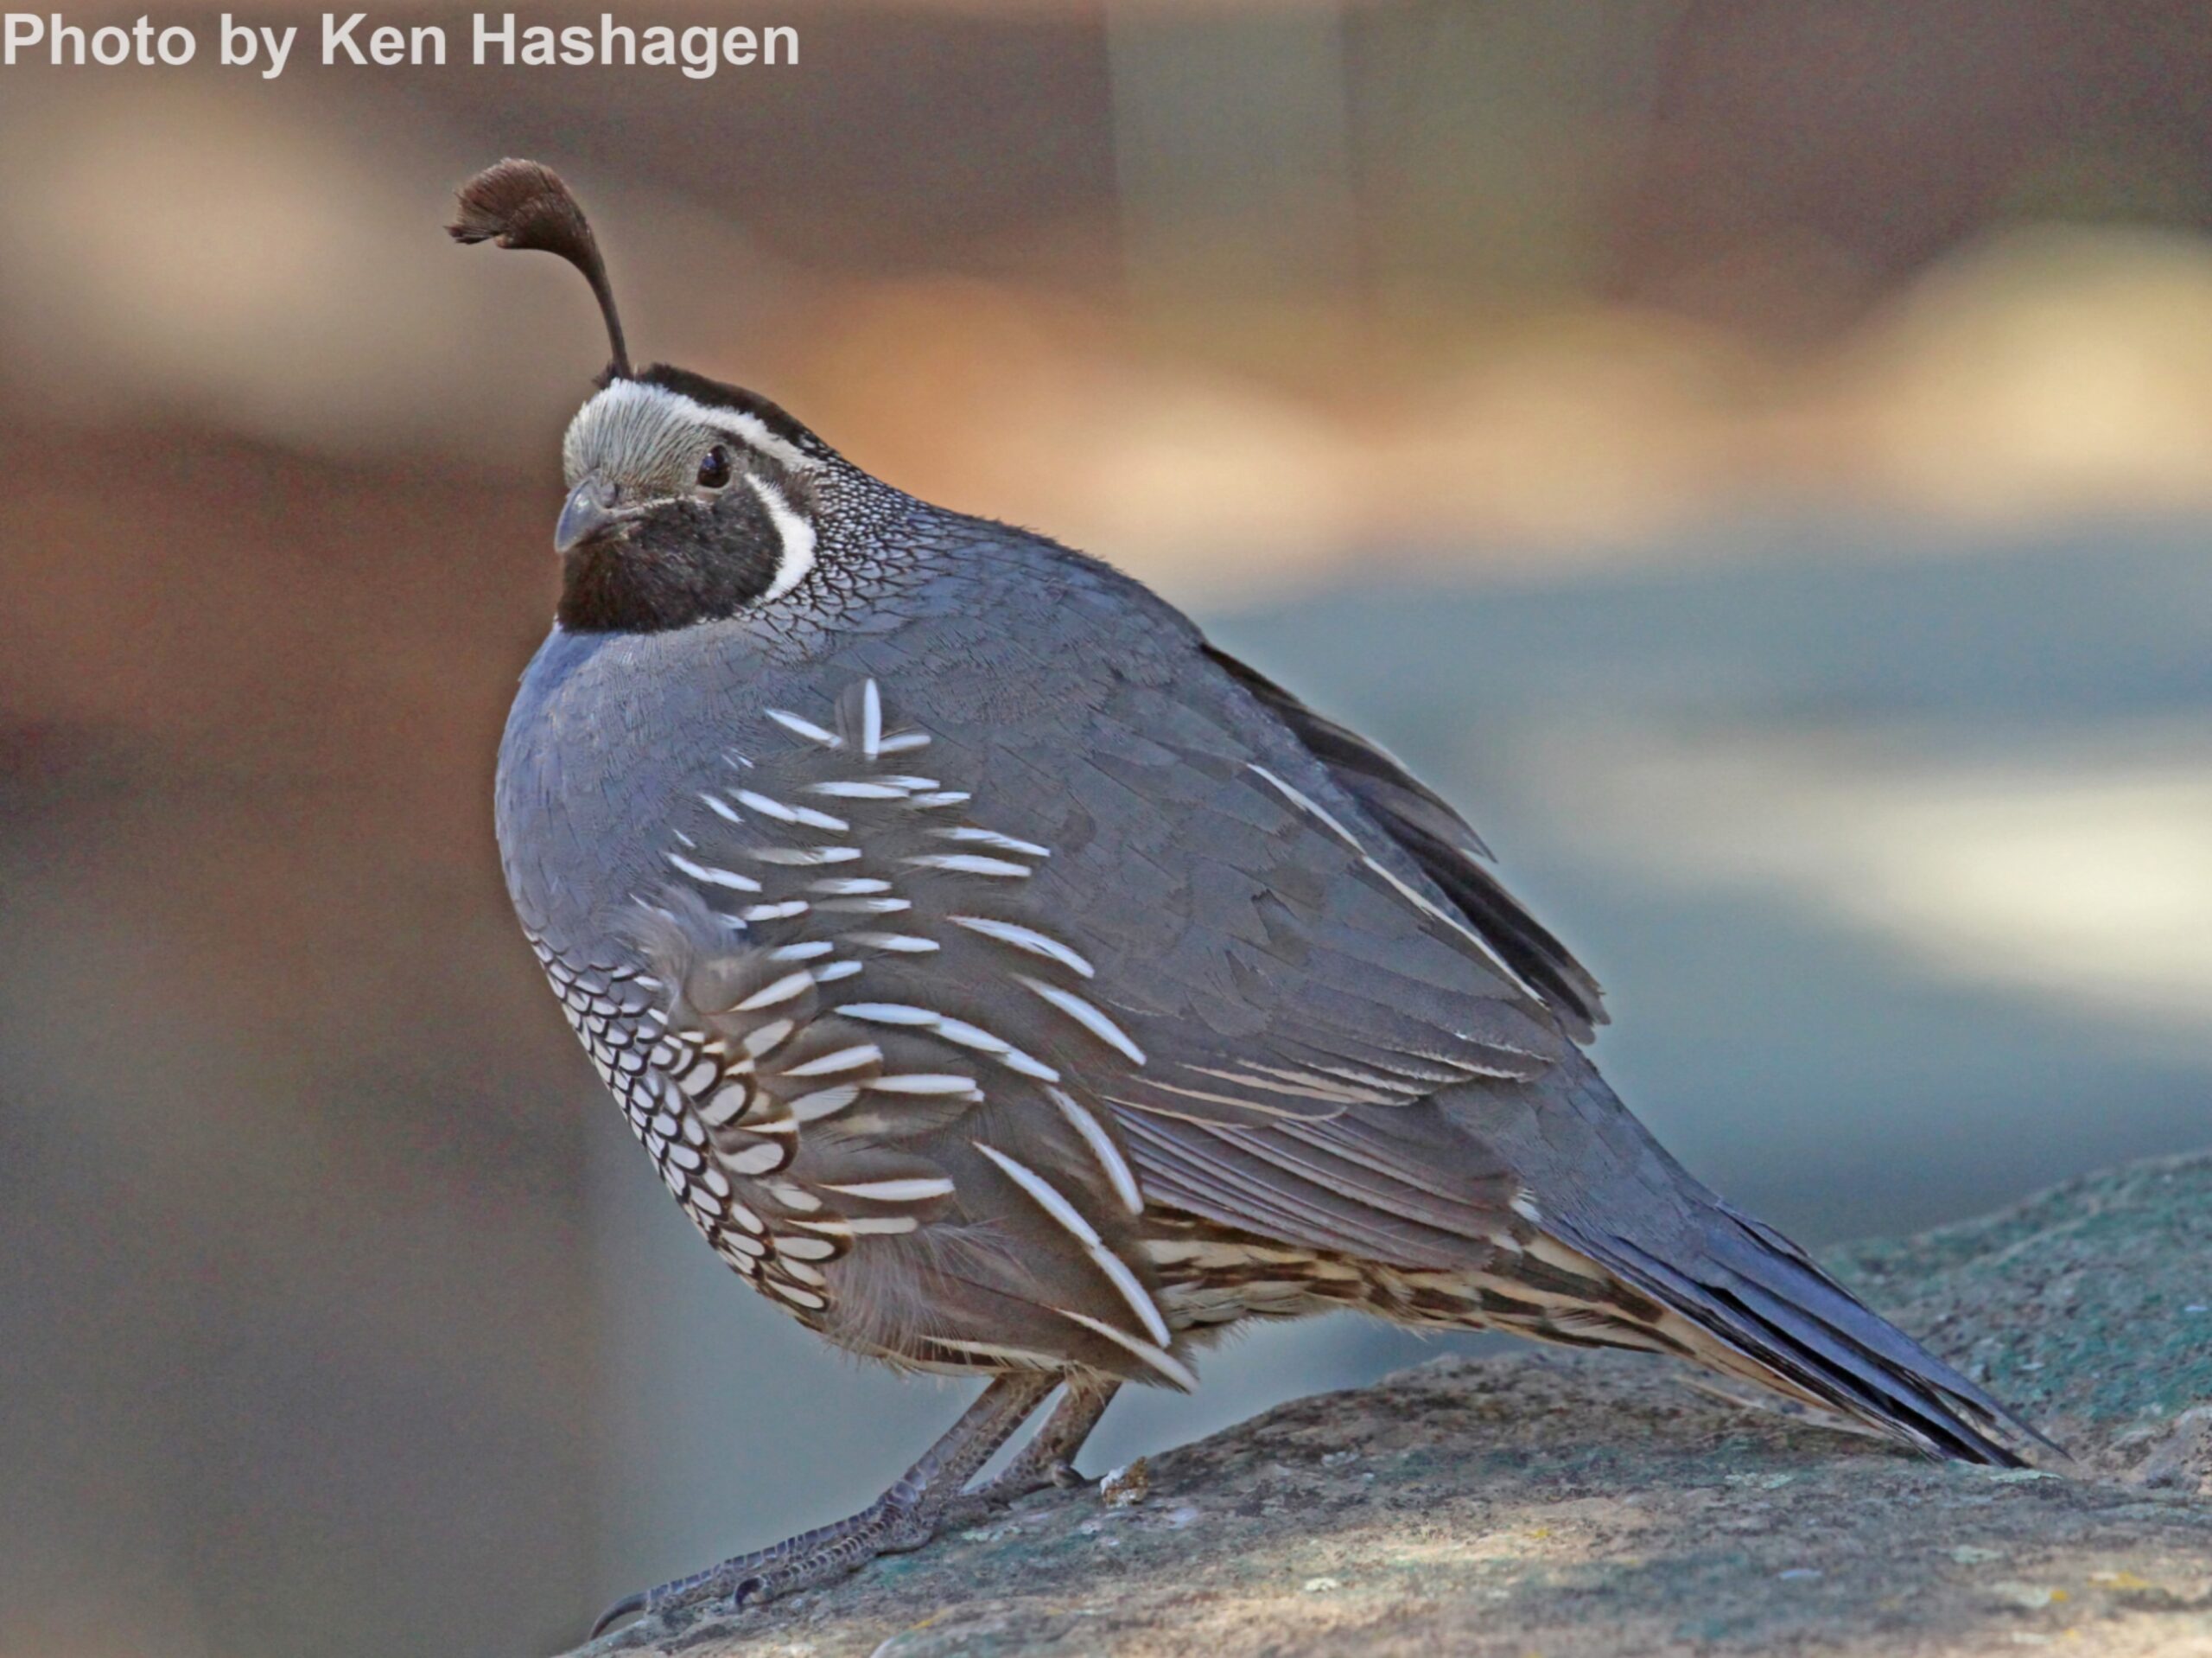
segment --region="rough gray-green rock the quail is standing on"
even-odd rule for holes
[[[1924,1463],[1630,1357],[1440,1359],[1150,1459],[1139,1501],[1046,1492],[588,1651],[2212,1654],[2212,1156],[1829,1264],[2075,1465]]]

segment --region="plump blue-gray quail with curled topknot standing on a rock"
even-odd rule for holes
[[[730,1268],[984,1381],[863,1512],[595,1634],[1066,1479],[1119,1388],[1194,1388],[1254,1319],[1666,1355],[1933,1459],[2048,1445],[1668,1156],[1588,1056],[1597,981],[1385,748],[1108,564],[635,367],[551,168],[476,175],[449,230],[575,266],[611,345],[500,742],[522,932]]]

